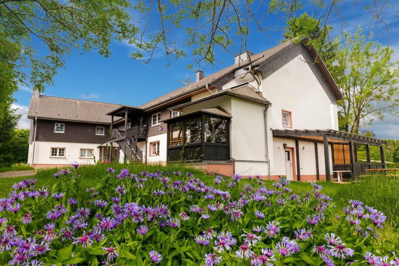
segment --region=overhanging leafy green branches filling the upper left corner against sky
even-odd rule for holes
[[[43,91],[72,50],[108,57],[111,40],[132,38],[129,8],[127,0],[1,1],[0,62],[13,67],[13,79]]]

